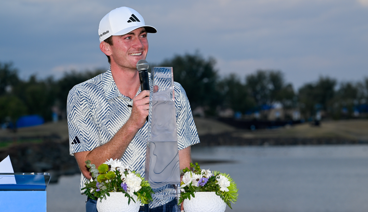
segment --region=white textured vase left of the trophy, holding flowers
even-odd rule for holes
[[[121,192],[109,192],[110,197],[106,195],[106,200],[103,198],[97,200],[97,211],[98,212],[137,212],[141,201],[137,201],[137,196],[134,195],[134,201],[130,201],[128,205],[128,197],[125,197],[124,193]]]

